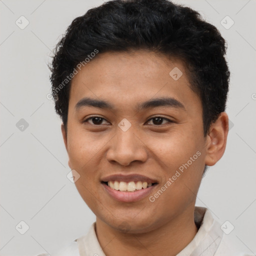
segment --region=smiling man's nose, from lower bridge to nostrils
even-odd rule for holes
[[[118,128],[116,135],[109,143],[106,153],[109,162],[118,162],[120,165],[127,166],[133,161],[145,162],[147,159],[145,142],[131,128],[126,131]]]

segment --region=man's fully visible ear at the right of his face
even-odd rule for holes
[[[205,140],[205,164],[214,165],[224,154],[228,133],[228,116],[221,112],[217,120],[210,125],[209,133]]]

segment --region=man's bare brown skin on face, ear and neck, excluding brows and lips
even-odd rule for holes
[[[169,72],[178,67],[178,80]],[[135,110],[138,102],[171,96],[185,109],[152,107]],[[75,104],[83,97],[103,99],[113,110]],[[102,117],[97,124],[90,116]],[[155,124],[152,117],[161,116]],[[118,123],[126,118],[131,127]],[[75,185],[96,215],[96,234],[106,255],[176,255],[194,237],[195,197],[204,164],[214,165],[223,155],[228,117],[222,112],[203,136],[202,106],[191,90],[178,59],[145,50],[98,53],[71,83],[67,132],[61,125],[68,165],[80,178]],[[157,198],[120,202],[105,192],[102,177],[139,173],[157,180],[150,195],[172,177],[197,151],[201,155]],[[123,228],[124,226],[124,228]]]

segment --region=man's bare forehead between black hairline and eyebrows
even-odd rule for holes
[[[182,61],[144,50],[105,52],[98,53],[73,77],[69,104],[74,108],[83,97],[90,97],[130,107],[134,102],[165,96],[187,107],[193,103],[189,101],[198,101]]]

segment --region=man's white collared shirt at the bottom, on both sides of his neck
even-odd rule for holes
[[[194,222],[199,227],[197,233],[176,256],[252,256],[235,248],[207,208],[195,206]],[[49,254],[42,253],[37,256]],[[95,233],[95,222],[86,235],[70,242],[52,256],[105,256]]]

